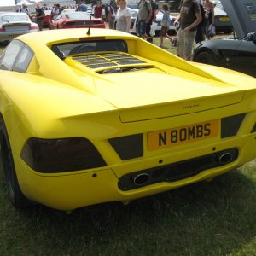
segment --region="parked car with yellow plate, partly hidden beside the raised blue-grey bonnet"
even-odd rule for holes
[[[214,7],[214,25],[216,27],[216,32],[224,32],[228,34],[233,31],[230,17],[225,12],[221,1],[218,1]]]

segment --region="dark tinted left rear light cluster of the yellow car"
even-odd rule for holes
[[[106,166],[101,154],[83,137],[30,138],[20,157],[32,170],[42,173],[72,172]]]

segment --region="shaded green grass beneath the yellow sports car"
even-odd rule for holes
[[[255,169],[253,160],[211,183],[68,215],[39,205],[15,210],[0,166],[0,254],[256,255]]]

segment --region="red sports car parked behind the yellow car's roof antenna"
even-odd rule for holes
[[[104,20],[91,17],[86,12],[62,12],[55,20],[50,21],[49,29],[77,27],[105,28]]]

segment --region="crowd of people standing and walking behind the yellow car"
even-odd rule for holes
[[[61,14],[63,9],[75,9],[76,11],[86,12],[88,5],[84,1],[79,0],[78,5],[61,7],[59,3],[55,3],[53,7],[42,6],[39,3],[36,7],[36,20],[39,29],[43,28],[44,10],[50,9],[53,19]],[[137,3],[137,36],[152,42],[150,29],[156,20],[158,6],[154,0],[140,0]],[[180,3],[180,12],[174,21],[174,26],[178,26],[177,30],[177,55],[184,60],[190,61],[193,45],[198,42],[211,38],[212,33],[208,33],[209,27],[214,28],[214,5],[211,0],[182,0]],[[97,1],[92,6],[92,13],[95,18],[102,18],[103,10],[105,19],[110,29],[116,29],[122,32],[130,32],[131,12],[127,8],[126,0],[110,0],[108,4],[102,4]],[[163,18],[160,30],[160,47],[163,47],[164,38],[172,41],[168,35],[168,29],[171,25],[169,6],[165,3],[162,5]],[[20,12],[30,15],[26,4],[22,4]]]

